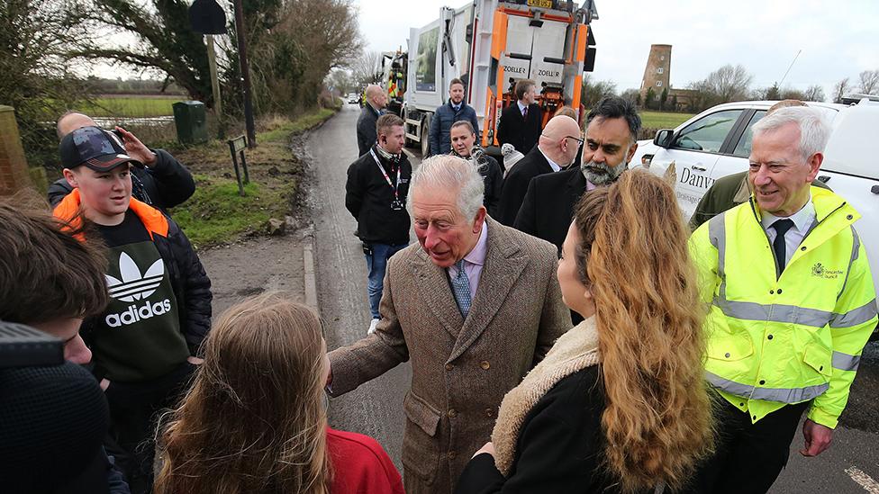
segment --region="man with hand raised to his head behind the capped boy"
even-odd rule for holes
[[[97,127],[97,123],[85,113],[66,112],[56,125],[58,139],[83,127]],[[164,149],[150,149],[143,145],[134,134],[122,127],[105,130],[107,137],[125,149],[128,156],[143,164],[142,168],[131,168],[131,196],[163,212],[189,199],[195,193],[195,180],[186,166]],[[73,187],[61,177],[49,186],[49,202],[58,205]]]

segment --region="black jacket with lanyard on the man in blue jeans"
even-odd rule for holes
[[[379,170],[376,158],[385,169]],[[394,187],[387,179],[396,183],[396,167],[388,163],[375,150],[358,157],[348,168],[348,182],[345,184],[345,207],[358,222],[358,238],[366,243],[406,244],[409,243],[409,212],[405,209],[406,195],[409,193],[409,180],[412,178],[412,165],[405,153],[400,154],[399,187],[397,197],[400,206],[392,210]]]

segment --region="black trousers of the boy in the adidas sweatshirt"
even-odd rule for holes
[[[188,389],[195,365],[147,382],[110,382],[110,432],[105,446],[125,475],[132,494],[152,492],[155,435],[159,413],[177,406]]]

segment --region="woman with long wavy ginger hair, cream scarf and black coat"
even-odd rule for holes
[[[656,176],[584,194],[557,275],[585,320],[504,397],[457,492],[685,488],[713,445],[687,233]]]

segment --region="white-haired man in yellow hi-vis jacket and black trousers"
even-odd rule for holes
[[[749,202],[693,232],[705,319],[705,376],[722,397],[717,453],[699,492],[766,492],[787,463],[802,412],[801,454],[827,449],[861,351],[876,326],[860,215],[810,187],[829,129],[805,107],[754,125]]]

